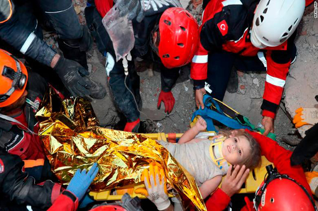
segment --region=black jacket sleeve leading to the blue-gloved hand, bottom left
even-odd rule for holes
[[[35,185],[34,178],[23,172],[23,161],[17,155],[0,154],[0,192],[17,204],[27,204],[40,209],[48,209],[52,205],[52,192],[60,192],[60,187],[52,181],[43,185]]]

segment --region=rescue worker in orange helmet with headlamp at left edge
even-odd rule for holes
[[[28,74],[20,60],[0,50],[0,84],[0,148],[23,160],[45,159],[35,113],[46,81],[33,72]]]

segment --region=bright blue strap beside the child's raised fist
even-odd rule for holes
[[[235,119],[227,117],[226,115],[223,115],[223,114],[219,114],[211,109],[208,109],[207,107],[204,107],[204,109],[199,109],[199,110],[195,111],[192,115],[192,121],[197,115],[202,116],[204,118],[204,120],[207,121],[206,122],[206,124],[207,124],[206,129],[208,131],[213,131],[211,129],[214,129],[214,131],[216,131],[214,124],[212,122],[212,119],[215,119],[215,120],[221,122],[222,124],[226,125],[229,128],[232,128],[232,129],[252,130],[249,126],[244,126],[244,125],[240,124],[238,121],[236,121]]]

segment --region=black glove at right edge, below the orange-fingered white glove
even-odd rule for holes
[[[305,132],[306,136],[300,141],[291,156],[291,165],[300,165],[318,153],[318,124]]]

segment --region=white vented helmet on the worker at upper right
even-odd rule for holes
[[[255,47],[278,46],[295,32],[305,0],[260,0],[255,10],[251,42]]]

